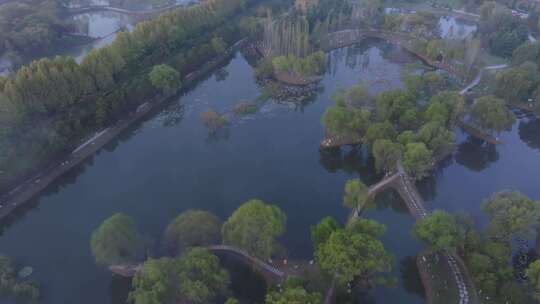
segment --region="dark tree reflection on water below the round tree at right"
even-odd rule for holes
[[[471,136],[459,144],[456,162],[473,171],[482,171],[499,159],[499,152],[494,145]]]

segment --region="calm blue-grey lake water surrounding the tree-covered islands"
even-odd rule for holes
[[[334,51],[324,90],[315,100],[270,100],[257,114],[212,136],[200,112],[230,111],[261,93],[253,69],[237,54],[226,73],[201,82],[51,186],[35,207],[4,228],[0,252],[35,268],[43,303],[119,304],[129,285],[95,266],[89,249],[90,235],[102,220],[124,212],[141,232],[158,239],[182,211],[209,210],[225,220],[243,202],[260,198],[287,214],[281,243],[291,258],[310,259],[309,227],[325,216],[347,217],[341,205],[345,181],[360,177],[371,184],[379,178],[361,149],[319,152],[320,118],[332,104],[329,96],[360,81],[372,93],[401,87],[400,73],[413,62],[381,42]],[[504,188],[540,199],[538,183],[530,178],[540,168],[538,127],[537,122],[518,123],[502,134],[505,145],[495,150],[460,138],[455,160],[421,191],[435,208],[475,216],[481,214],[482,198]],[[423,245],[410,236],[413,218],[392,192],[381,195],[366,216],[388,226],[384,243],[395,256],[393,275],[399,283],[376,288],[363,303],[423,303],[413,258]]]

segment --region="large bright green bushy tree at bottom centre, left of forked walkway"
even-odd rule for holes
[[[375,221],[353,220],[332,232],[317,248],[315,258],[323,271],[336,276],[340,285],[359,277],[368,281],[392,267],[392,257],[378,239],[384,231],[385,226]]]

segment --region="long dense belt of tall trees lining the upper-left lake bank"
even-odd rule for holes
[[[154,65],[165,61],[185,76],[218,54],[212,38],[229,45],[240,39],[246,31],[233,22],[239,18],[231,18],[248,1],[180,8],[119,33],[81,64],[41,59],[13,77],[0,77],[0,190],[13,176],[67,152],[84,135],[158,94],[147,76]]]

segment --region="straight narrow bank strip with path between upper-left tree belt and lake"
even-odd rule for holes
[[[237,50],[247,42],[247,38],[241,39],[229,47],[222,55],[214,57],[207,61],[203,66],[194,72],[188,74],[179,88],[178,92],[189,89],[198,80],[208,75],[220,63],[227,60]],[[38,196],[51,183],[59,177],[68,173],[73,167],[81,164],[84,160],[96,154],[101,148],[116,138],[120,133],[128,129],[134,123],[145,117],[152,110],[170,101],[171,98],[178,96],[173,95],[157,95],[154,98],[140,104],[133,112],[126,113],[125,118],[118,120],[114,125],[105,129],[97,130],[95,135],[90,139],[82,142],[73,152],[52,161],[52,163],[39,173],[31,178],[17,184],[11,190],[0,195],[0,221],[6,219],[15,210],[31,202],[33,198]]]

